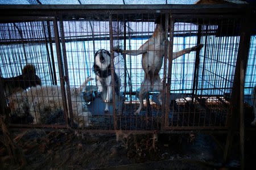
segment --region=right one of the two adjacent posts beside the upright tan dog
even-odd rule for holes
[[[166,95],[166,114],[164,118],[165,128],[169,126],[169,113],[170,113],[170,91],[171,91],[171,79],[172,79],[172,52],[174,50],[174,18],[170,14],[170,41],[169,41],[169,50],[168,50],[168,75],[167,75],[167,95]]]

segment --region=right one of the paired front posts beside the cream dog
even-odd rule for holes
[[[65,35],[64,35],[64,26],[63,26],[63,18],[60,16],[60,34],[61,34],[61,45],[62,45],[62,55],[63,55],[63,64],[64,64],[64,80],[67,86],[67,97],[68,97],[68,108],[69,108],[69,119],[71,128],[73,127],[73,110],[72,110],[72,102],[71,102],[71,91],[69,86],[69,77],[68,77],[68,62],[67,62],[67,52],[65,45]],[[65,89],[64,89],[65,90]],[[80,120],[80,117],[79,117]],[[77,122],[79,124],[79,122]]]

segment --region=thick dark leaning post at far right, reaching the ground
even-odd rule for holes
[[[241,35],[238,47],[236,70],[234,73],[233,88],[231,94],[231,108],[232,116],[228,120],[228,138],[226,148],[224,151],[224,164],[228,156],[230,143],[232,141],[233,127],[237,127],[238,118],[240,119],[240,150],[241,150],[241,169],[245,169],[245,115],[243,111],[243,95],[245,86],[245,73],[247,59],[250,49],[251,38],[251,22],[250,22],[250,9],[247,9],[244,19],[241,21]],[[228,141],[229,140],[229,141]]]

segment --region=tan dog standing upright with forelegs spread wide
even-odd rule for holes
[[[121,52],[122,54],[128,54],[130,56],[137,56],[139,54],[142,54],[144,80],[141,84],[141,91],[139,92],[139,108],[137,109],[135,114],[139,114],[139,112],[141,112],[143,105],[143,96],[148,91],[159,91],[160,93],[158,95],[158,100],[159,103],[162,104],[163,82],[160,80],[159,71],[163,65],[164,41],[166,40],[166,37],[164,36],[165,25],[164,20],[161,20],[160,18],[158,18],[155,23],[156,28],[152,37],[148,41],[146,41],[138,50],[115,49],[116,52]],[[168,40],[167,44],[169,44]],[[197,49],[200,50],[202,47],[203,45],[196,45],[192,48],[187,48],[180,50],[179,52],[174,52],[172,53],[172,59],[183,56],[184,54],[190,53]]]

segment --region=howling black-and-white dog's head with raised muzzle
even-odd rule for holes
[[[94,64],[105,70],[110,65],[110,53],[105,49],[100,49],[94,54]]]

